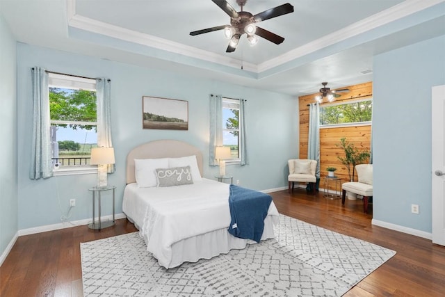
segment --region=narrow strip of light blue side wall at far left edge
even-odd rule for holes
[[[16,42],[0,15],[0,255],[17,233]]]

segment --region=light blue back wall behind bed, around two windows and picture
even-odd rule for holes
[[[37,65],[54,72],[86,77],[108,77],[112,81],[112,129],[116,172],[108,184],[117,188],[116,213],[122,211],[125,158],[136,145],[156,139],[177,139],[204,152],[204,177],[213,179],[218,168],[209,164],[209,94],[248,99],[248,166],[227,166],[227,174],[241,186],[265,190],[286,186],[287,160],[298,156],[298,98],[237,86],[210,79],[196,79],[171,72],[18,44],[17,97],[19,136],[19,229],[60,223],[70,198],[76,198],[72,220],[92,216],[88,187],[96,175],[29,179],[31,159],[32,99],[31,70]],[[142,96],[151,95],[188,101],[188,131],[142,129]],[[104,214],[111,204],[104,203]]]

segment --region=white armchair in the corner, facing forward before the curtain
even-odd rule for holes
[[[291,159],[287,161],[289,164],[289,176],[287,180],[289,182],[289,193],[293,192],[293,185],[296,182],[304,182],[306,184],[312,184],[312,193],[315,194],[316,176],[315,170],[317,167],[317,161],[309,159]]]

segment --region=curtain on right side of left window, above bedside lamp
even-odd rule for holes
[[[113,147],[111,141],[111,80],[96,79],[97,97],[97,146]],[[114,164],[108,164],[107,172],[115,171]]]

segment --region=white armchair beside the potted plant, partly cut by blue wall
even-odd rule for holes
[[[343,195],[341,204],[345,204],[346,191],[363,196],[363,212],[368,212],[369,198],[373,195],[373,164],[360,164],[355,166],[357,170],[358,182],[345,182],[341,185]]]

